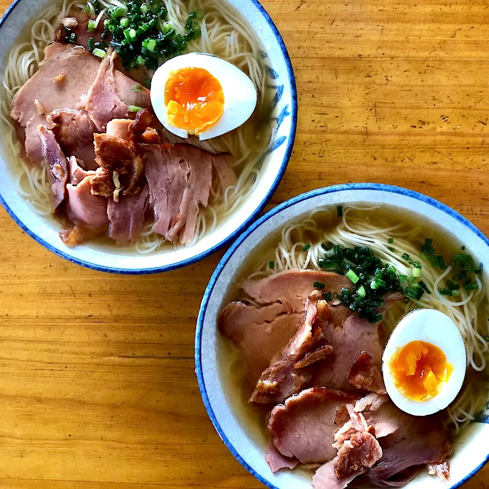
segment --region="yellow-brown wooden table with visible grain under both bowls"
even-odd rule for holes
[[[487,5],[264,6],[289,48],[300,110],[271,205],[334,183],[384,182],[489,232]],[[118,277],[48,253],[4,210],[0,228],[0,487],[262,487],[214,432],[194,373],[196,317],[222,253]],[[485,487],[487,475],[467,487]]]

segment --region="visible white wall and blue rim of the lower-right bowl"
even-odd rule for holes
[[[489,240],[463,216],[446,205],[417,192],[390,185],[354,183],[320,188],[294,197],[259,218],[231,246],[216,268],[202,300],[195,340],[196,373],[207,413],[231,453],[260,482],[271,489],[312,489],[311,476],[304,471],[282,470],[273,474],[266,463],[267,440],[251,431],[250,422],[236,409],[223,382],[225,367],[216,348],[219,331],[217,317],[235,287],[240,266],[255,253],[256,244],[266,241],[291,220],[324,206],[349,203],[395,205],[438,223],[447,233],[458,236],[477,261],[489,263]],[[489,394],[488,399],[489,401]],[[486,404],[487,406],[487,404]],[[489,459],[489,410],[478,414],[467,431],[454,443],[450,459],[451,481],[420,474],[410,489],[454,489],[473,476]]]

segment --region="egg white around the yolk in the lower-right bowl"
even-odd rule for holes
[[[415,340],[438,346],[444,352],[447,364],[453,367],[440,393],[423,402],[407,399],[397,390],[389,366],[396,351]],[[467,353],[460,332],[446,314],[433,309],[420,309],[400,320],[387,342],[382,362],[386,390],[394,404],[408,414],[427,416],[445,409],[460,392],[467,369]]]

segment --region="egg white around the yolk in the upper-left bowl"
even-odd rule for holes
[[[188,132],[167,121],[165,86],[173,71],[181,68],[203,68],[221,83],[224,93],[224,113],[208,130],[199,134],[200,141],[216,138],[244,124],[255,111],[258,96],[251,79],[233,64],[206,53],[181,55],[162,64],[151,82],[151,104],[154,113],[170,132],[188,138]]]

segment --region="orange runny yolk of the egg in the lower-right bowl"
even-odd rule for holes
[[[435,397],[448,381],[453,367],[447,364],[444,352],[425,341],[411,341],[399,348],[390,361],[394,385],[413,401]]]

